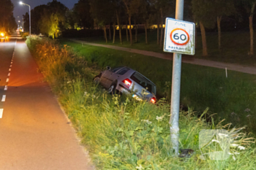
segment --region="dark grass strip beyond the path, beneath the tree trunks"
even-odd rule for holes
[[[133,38],[135,38],[133,36]],[[116,36],[116,43],[114,45],[120,47],[135,48],[139,50],[154,51],[163,53],[162,47],[157,45],[157,32],[151,31],[148,33],[148,45],[145,43],[145,34],[138,34],[138,43],[129,45],[126,41],[126,36],[123,36],[124,44],[120,45],[119,36]],[[255,35],[256,39],[256,35]],[[87,42],[95,42],[99,44],[106,44],[104,37],[89,37],[83,38]],[[108,45],[113,45],[112,41]],[[201,36],[197,36],[197,49],[195,51],[195,58],[203,58],[211,61],[222,61],[227,63],[240,63],[248,66],[256,66],[256,55],[249,56],[249,31],[239,32],[224,32],[222,33],[222,53],[218,49],[218,35],[217,33],[207,34],[208,56],[202,56],[202,40]],[[256,47],[255,47],[256,53]]]

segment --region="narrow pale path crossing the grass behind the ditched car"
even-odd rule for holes
[[[127,51],[129,53],[137,53],[137,54],[142,54],[142,55],[148,55],[156,58],[162,58],[165,60],[173,60],[173,55],[171,53],[155,53],[151,51],[146,51],[146,50],[137,50],[137,49],[132,49],[132,48],[127,48],[127,47],[117,47],[114,45],[100,45],[97,43],[93,42],[86,42],[78,39],[69,39],[72,42],[78,42],[78,43],[83,43],[84,45],[92,45],[92,46],[97,46],[97,47],[106,47],[110,48],[113,50],[121,50],[121,51]],[[208,60],[203,60],[203,59],[198,59],[198,58],[191,58],[187,56],[182,56],[182,63],[190,63],[190,64],[195,64],[199,66],[209,66],[209,67],[214,67],[217,69],[225,69],[227,70],[232,70],[236,72],[243,72],[247,74],[256,74],[256,67],[253,66],[242,66],[236,63],[222,63],[218,61],[208,61]]]

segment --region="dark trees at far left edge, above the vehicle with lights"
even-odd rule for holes
[[[14,6],[11,0],[1,0],[0,5],[0,31],[13,31],[18,28],[13,16]]]

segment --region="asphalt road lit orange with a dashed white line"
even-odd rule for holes
[[[37,68],[22,39],[0,43],[0,169],[94,169]]]

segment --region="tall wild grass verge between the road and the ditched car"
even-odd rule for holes
[[[154,105],[135,101],[129,95],[111,96],[92,84],[97,70],[66,47],[42,39],[29,39],[27,43],[97,169],[255,169],[255,145],[246,145],[244,136],[238,142],[246,150],[239,151],[236,161],[232,156],[225,161],[200,160],[199,132],[224,127],[207,123],[192,109],[180,112],[179,143],[181,148],[195,152],[191,158],[173,157],[170,107],[165,99]],[[206,114],[207,109],[203,112]]]

